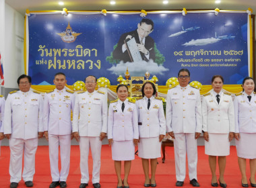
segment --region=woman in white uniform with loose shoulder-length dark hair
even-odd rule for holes
[[[139,113],[139,157],[145,175],[144,187],[156,187],[157,158],[161,156],[161,141],[166,134],[166,122],[162,99],[154,97],[154,83],[143,84],[142,99],[136,101]],[[151,164],[151,179],[149,177],[149,159]]]

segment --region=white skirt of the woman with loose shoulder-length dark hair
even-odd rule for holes
[[[158,137],[139,138],[138,150],[141,158],[161,157],[161,142]]]

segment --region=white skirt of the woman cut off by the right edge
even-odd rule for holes
[[[240,140],[236,140],[237,156],[241,158],[256,158],[256,133],[240,133]]]

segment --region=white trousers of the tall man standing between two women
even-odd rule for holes
[[[176,133],[174,136],[177,181],[184,181],[186,177],[186,151],[189,165],[189,179],[197,180],[197,140],[195,140],[195,133]]]

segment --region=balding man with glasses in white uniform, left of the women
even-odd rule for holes
[[[87,91],[77,93],[73,113],[73,134],[80,147],[81,184],[88,186],[88,155],[92,151],[92,184],[100,188],[100,154],[102,140],[107,132],[108,105],[104,92],[95,91],[97,79],[86,77]]]

